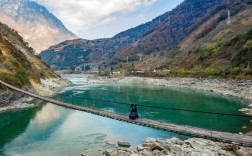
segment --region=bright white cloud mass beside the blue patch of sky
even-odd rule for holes
[[[117,14],[147,7],[157,0],[46,0],[45,5],[73,32],[115,20]]]

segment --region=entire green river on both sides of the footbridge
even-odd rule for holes
[[[247,132],[251,127],[248,118],[163,109],[165,107],[239,115],[238,110],[247,103],[235,98],[210,92],[151,85],[88,84],[86,77],[81,75],[68,75],[67,78],[73,85],[57,90],[61,95],[56,96],[56,99],[122,114],[128,114],[127,104],[136,103],[143,105],[138,107],[142,118],[220,131]],[[136,146],[143,143],[146,137],[187,138],[38,100],[34,102],[37,103],[35,108],[0,114],[0,155],[71,156],[84,152],[97,155],[100,151],[113,147],[119,140],[129,141]],[[242,128],[244,126],[248,128]]]

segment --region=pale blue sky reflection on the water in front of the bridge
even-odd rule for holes
[[[54,112],[56,115],[52,115]],[[115,144],[118,140],[137,145],[148,136],[185,138],[49,104],[36,114],[24,133],[6,143],[4,154],[80,155],[90,149],[107,149],[111,146],[107,142]]]

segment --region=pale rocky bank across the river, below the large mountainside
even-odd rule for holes
[[[218,94],[233,96],[252,102],[252,81],[250,80],[143,77],[108,78],[89,75],[88,83],[133,83],[176,88],[189,88],[215,92]]]

